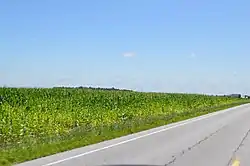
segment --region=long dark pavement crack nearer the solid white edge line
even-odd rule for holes
[[[224,126],[223,126],[224,127]],[[182,150],[180,153],[178,153],[177,155],[173,155],[172,156],[172,160],[170,160],[168,163],[166,163],[164,166],[169,166],[171,164],[173,164],[179,157],[182,157],[184,154],[186,154],[187,152],[191,151],[193,148],[195,148],[196,146],[202,144],[204,141],[208,140],[209,138],[211,138],[213,135],[215,135],[216,133],[218,133],[223,127],[219,128],[218,130],[216,130],[215,132],[209,134],[208,136],[204,137],[203,139],[199,140],[198,142],[196,142],[194,145],[188,147],[187,149]]]

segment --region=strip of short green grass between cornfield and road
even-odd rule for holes
[[[157,115],[147,118],[134,117],[113,125],[78,127],[71,130],[68,134],[60,136],[28,138],[20,144],[12,143],[11,145],[0,147],[0,166],[10,166],[12,164],[22,163],[249,102],[249,100],[243,99],[230,104],[199,108],[184,112],[172,112],[168,115]]]

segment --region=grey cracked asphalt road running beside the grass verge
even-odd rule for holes
[[[250,104],[18,166],[250,166]]]

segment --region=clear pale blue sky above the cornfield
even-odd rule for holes
[[[250,94],[248,0],[0,1],[0,86]]]

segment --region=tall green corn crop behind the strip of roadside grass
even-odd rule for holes
[[[81,126],[228,104],[241,99],[197,94],[79,88],[0,88],[0,145],[63,135]]]

